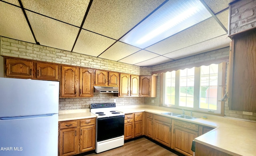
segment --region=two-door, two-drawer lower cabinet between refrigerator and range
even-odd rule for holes
[[[96,118],[59,122],[59,156],[95,149]],[[80,145],[80,146],[79,146]]]

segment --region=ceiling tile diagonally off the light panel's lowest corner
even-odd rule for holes
[[[155,53],[141,50],[141,51],[138,51],[138,52],[126,57],[126,58],[119,60],[119,62],[128,63],[128,64],[136,64],[136,63],[143,62],[145,60],[149,60],[151,58],[155,58],[158,56],[159,55],[157,55]]]

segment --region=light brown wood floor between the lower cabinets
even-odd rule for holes
[[[92,153],[86,156],[178,156],[146,138],[140,138],[99,154]]]

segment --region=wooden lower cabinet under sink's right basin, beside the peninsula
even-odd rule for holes
[[[198,137],[199,125],[174,120],[172,148],[186,156],[193,156],[192,141]]]

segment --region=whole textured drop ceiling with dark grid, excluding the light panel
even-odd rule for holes
[[[152,66],[229,46],[231,0],[201,0],[213,17],[145,49],[119,41],[165,2],[0,0],[0,36],[138,66]]]

